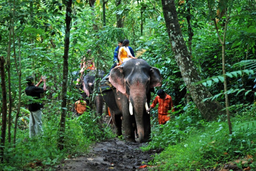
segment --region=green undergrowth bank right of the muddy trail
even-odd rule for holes
[[[236,113],[232,118],[232,135],[223,116],[214,122],[205,122],[190,110],[175,116],[165,125],[154,125],[152,141],[143,150],[163,148],[149,165],[159,171],[195,171],[221,167],[238,159],[248,163],[237,166],[241,170],[250,166],[256,170],[256,111]],[[238,160],[238,161],[241,161]]]

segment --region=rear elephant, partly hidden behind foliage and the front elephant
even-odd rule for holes
[[[102,79],[104,74],[105,74],[104,71],[99,71],[98,76]],[[86,74],[86,76],[83,77],[83,82],[82,82],[82,89],[84,91],[83,99],[86,101],[87,104],[89,104],[89,100],[87,97],[90,97],[90,95],[93,93],[94,83],[95,83],[95,70],[91,70],[89,73]],[[102,114],[103,98],[101,95],[97,95],[95,97],[95,105],[96,105],[97,113]],[[92,108],[92,105],[89,105],[89,107]]]

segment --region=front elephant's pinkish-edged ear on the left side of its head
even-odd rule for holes
[[[109,82],[122,94],[126,94],[124,72],[122,66],[111,69],[109,74]]]

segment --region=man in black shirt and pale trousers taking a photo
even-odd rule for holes
[[[42,76],[40,81],[34,86],[33,77],[27,77],[26,82],[28,87],[26,87],[26,95],[32,96],[35,100],[40,99],[40,94],[46,91],[46,77]],[[43,88],[39,88],[39,85],[43,82]],[[29,138],[34,137],[38,134],[43,134],[42,129],[42,108],[43,104],[38,102],[32,102],[28,105],[28,110],[30,111],[29,116]]]

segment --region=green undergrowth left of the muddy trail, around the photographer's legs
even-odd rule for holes
[[[55,170],[54,165],[61,160],[84,155],[93,142],[113,137],[110,128],[97,123],[95,113],[85,112],[82,116],[66,119],[65,148],[60,151],[57,148],[58,117],[53,115],[49,118],[44,114],[42,117],[44,134],[34,138],[29,138],[29,120],[21,121],[20,124],[27,125],[17,130],[15,148],[10,148],[13,144],[6,143],[8,152],[4,153],[6,156],[0,170]]]

